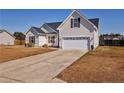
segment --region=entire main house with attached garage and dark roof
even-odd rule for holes
[[[35,46],[47,44],[62,49],[91,50],[99,45],[99,19],[86,19],[78,11],[63,22],[44,23],[26,32],[26,43]]]

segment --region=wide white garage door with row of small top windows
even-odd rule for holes
[[[62,42],[62,48],[88,50],[88,40],[88,37],[64,37]]]

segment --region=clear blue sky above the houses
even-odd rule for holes
[[[78,9],[86,18],[100,19],[100,34],[124,34],[124,9]],[[45,22],[63,21],[72,9],[0,9],[0,29],[8,32],[26,32],[31,26],[41,27]]]

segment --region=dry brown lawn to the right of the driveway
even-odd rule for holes
[[[124,82],[124,47],[101,46],[57,77],[67,82]]]

